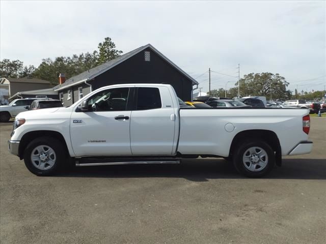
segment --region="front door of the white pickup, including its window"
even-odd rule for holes
[[[101,90],[90,97],[89,111],[72,112],[71,143],[78,156],[131,155],[130,101],[133,87]]]

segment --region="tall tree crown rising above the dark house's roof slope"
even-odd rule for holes
[[[114,44],[110,37],[106,37],[104,42],[98,44],[98,51],[98,64],[106,63],[122,53],[122,51],[116,49],[116,44]]]

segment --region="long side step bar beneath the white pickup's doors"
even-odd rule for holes
[[[76,159],[76,166],[101,166],[123,164],[179,164],[179,158],[80,158]]]

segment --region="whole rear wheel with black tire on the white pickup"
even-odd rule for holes
[[[251,154],[250,150],[256,153]],[[260,154],[266,154],[266,156],[260,158]],[[255,156],[253,157],[253,155]],[[258,160],[258,162],[255,162],[256,160]],[[234,150],[233,164],[240,174],[251,178],[259,178],[266,175],[274,168],[275,154],[273,149],[262,140],[254,138],[243,140]]]

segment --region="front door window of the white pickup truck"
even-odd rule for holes
[[[125,111],[128,95],[128,87],[102,90],[88,100],[88,105],[93,111]]]

